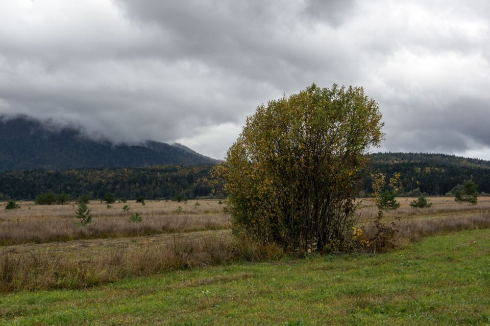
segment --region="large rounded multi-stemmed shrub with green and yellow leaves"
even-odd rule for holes
[[[313,84],[257,107],[217,168],[235,231],[290,250],[340,248],[381,127],[360,87]]]

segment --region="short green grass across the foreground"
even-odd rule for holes
[[[490,324],[490,230],[0,296],[4,324]]]

